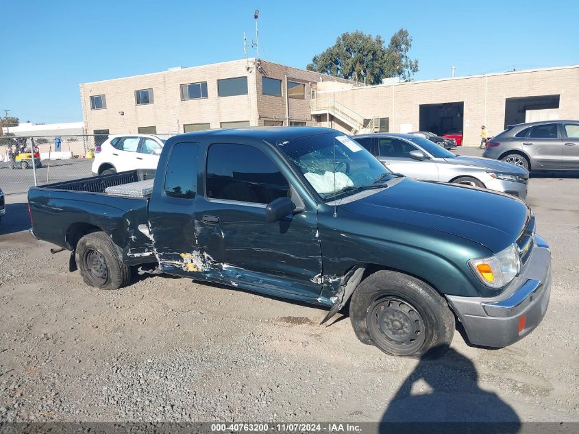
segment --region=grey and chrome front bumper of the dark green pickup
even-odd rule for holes
[[[446,296],[474,345],[502,348],[536,328],[551,293],[551,252],[535,235],[523,271],[508,289],[493,298]]]

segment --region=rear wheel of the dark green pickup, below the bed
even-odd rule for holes
[[[77,268],[86,283],[100,289],[119,289],[131,279],[131,268],[116,254],[114,243],[104,232],[82,237],[75,250]]]

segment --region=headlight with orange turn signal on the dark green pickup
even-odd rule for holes
[[[519,250],[515,244],[511,244],[489,258],[471,259],[469,265],[484,285],[502,288],[519,274],[521,269]]]

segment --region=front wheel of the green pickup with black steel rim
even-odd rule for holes
[[[360,341],[393,356],[443,354],[454,336],[454,314],[425,282],[380,270],[362,280],[350,302],[350,320]]]

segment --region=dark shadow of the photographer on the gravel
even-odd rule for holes
[[[472,361],[452,348],[434,359],[432,353],[438,351],[434,348],[424,354],[402,383],[382,415],[380,432],[464,433],[465,425],[456,422],[485,422],[492,424],[495,432],[517,433],[521,428],[519,416],[497,394],[478,387],[478,372]],[[480,429],[485,431],[484,424]]]

